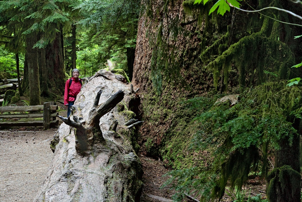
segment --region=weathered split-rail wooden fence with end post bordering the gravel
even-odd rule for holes
[[[0,107],[0,112],[30,112],[29,114],[0,114],[0,118],[41,118],[37,121],[5,121],[0,122],[0,126],[43,126],[44,130],[50,126],[57,126],[59,120],[56,112],[59,107],[54,102],[44,102],[43,105],[36,106],[6,106]],[[40,111],[43,111],[41,113]]]

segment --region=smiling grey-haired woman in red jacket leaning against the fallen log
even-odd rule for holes
[[[67,110],[67,117],[70,115],[70,106],[72,106],[76,101],[76,96],[79,94],[81,87],[82,87],[82,81],[79,78],[79,70],[73,69],[72,72],[72,78],[68,79],[65,84],[65,93],[64,93],[64,104],[68,108]]]

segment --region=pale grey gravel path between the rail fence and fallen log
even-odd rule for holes
[[[1,202],[33,201],[53,157],[49,143],[56,130],[24,127],[0,131]]]

